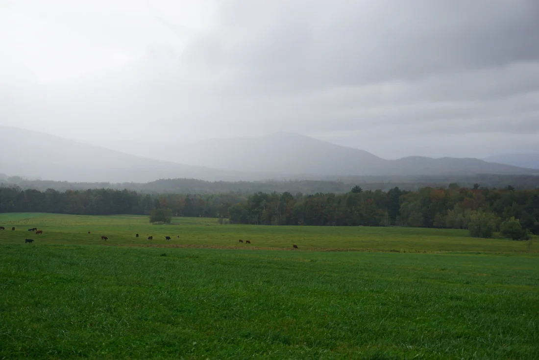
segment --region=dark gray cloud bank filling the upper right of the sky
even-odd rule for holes
[[[538,11],[534,1],[238,1],[188,54],[213,51],[206,69],[292,87],[416,80],[535,61]]]

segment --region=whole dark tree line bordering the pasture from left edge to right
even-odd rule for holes
[[[176,216],[228,218],[254,225],[410,226],[467,229],[488,222],[499,230],[503,221],[519,219],[522,228],[539,234],[539,190],[424,187],[419,191],[364,191],[355,186],[344,194],[255,193],[139,194],[128,190],[93,189],[45,192],[0,188],[0,212],[47,212],[110,215],[150,214],[171,209]]]

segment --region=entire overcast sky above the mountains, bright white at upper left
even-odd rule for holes
[[[0,0],[0,125],[539,151],[539,1]]]

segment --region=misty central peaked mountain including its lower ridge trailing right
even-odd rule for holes
[[[112,144],[112,146],[115,146]],[[125,151],[243,172],[267,172],[296,179],[345,175],[475,175],[534,174],[531,169],[494,164],[479,159],[406,157],[385,160],[367,151],[338,146],[299,134],[275,133],[257,138],[210,139],[186,144],[152,144],[148,150],[128,141],[116,145]]]

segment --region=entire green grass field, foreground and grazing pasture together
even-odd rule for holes
[[[17,228],[0,233],[0,358],[539,358],[539,255],[527,242],[174,222],[0,214]],[[148,235],[162,247],[137,247]],[[165,235],[223,249],[167,247]],[[241,238],[300,250],[233,249]],[[377,251],[306,251],[348,248]]]

